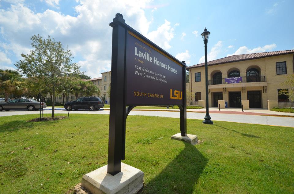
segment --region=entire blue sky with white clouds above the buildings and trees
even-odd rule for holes
[[[0,0],[0,69],[16,69],[30,38],[50,35],[69,47],[73,62],[92,78],[111,70],[116,13],[187,66],[208,60],[294,49],[294,1]]]

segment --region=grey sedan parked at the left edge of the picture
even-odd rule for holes
[[[46,103],[43,103],[43,107],[46,108]],[[0,111],[2,110],[39,110],[42,108],[42,104],[40,107],[40,102],[33,99],[13,99],[8,102],[0,103]]]

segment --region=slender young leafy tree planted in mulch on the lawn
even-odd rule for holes
[[[61,42],[48,36],[34,35],[31,38],[30,54],[21,54],[24,60],[19,60],[15,66],[27,77],[36,77],[52,93],[52,99],[61,92],[64,84],[71,77],[81,74],[77,63],[72,62],[72,54],[68,47],[64,49]],[[54,117],[55,100],[52,100],[52,114]]]

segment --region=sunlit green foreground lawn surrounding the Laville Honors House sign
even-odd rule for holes
[[[107,163],[108,115],[36,117],[0,117],[0,193],[65,193]],[[293,128],[188,119],[192,146],[171,140],[179,124],[128,116],[123,162],[145,173],[141,193],[294,192]]]

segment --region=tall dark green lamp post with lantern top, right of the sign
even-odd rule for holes
[[[205,98],[206,98],[206,114],[205,117],[202,121],[204,124],[213,124],[213,121],[211,120],[211,117],[209,116],[209,111],[208,111],[208,73],[207,73],[207,42],[209,38],[210,32],[207,31],[205,28],[204,31],[202,32],[201,36],[204,41],[204,48],[205,48]]]

